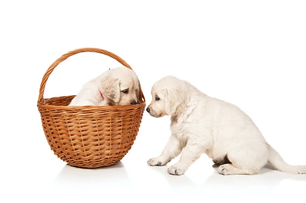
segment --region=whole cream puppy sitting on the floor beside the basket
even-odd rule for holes
[[[222,175],[253,175],[267,162],[283,172],[306,173],[306,166],[287,164],[242,110],[203,94],[189,82],[166,76],[152,86],[151,94],[147,112],[156,118],[171,115],[172,135],[149,165],[165,165],[184,148],[180,160],[168,168],[171,175],[183,175],[202,153],[213,159]]]

